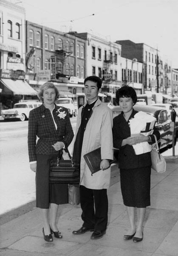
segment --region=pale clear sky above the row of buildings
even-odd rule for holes
[[[62,32],[89,32],[108,41],[131,40],[161,53],[178,68],[178,0],[9,0],[26,20]]]

